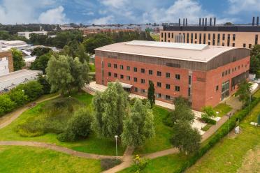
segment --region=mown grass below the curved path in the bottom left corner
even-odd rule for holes
[[[33,146],[0,146],[0,172],[101,172],[100,160]]]

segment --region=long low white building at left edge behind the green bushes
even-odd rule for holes
[[[41,74],[41,70],[18,70],[6,75],[0,76],[0,92],[9,91],[18,84],[36,80],[37,75]]]

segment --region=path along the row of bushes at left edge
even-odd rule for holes
[[[42,103],[42,102],[44,102],[46,100],[52,100],[52,99],[57,98],[59,96],[60,95],[57,95],[57,96],[53,96],[51,98],[46,98],[46,99],[43,99],[43,100],[39,99],[38,101],[36,100],[36,103],[38,104],[38,103]],[[29,110],[30,109],[30,107],[29,107],[30,104],[31,103],[28,103],[25,107],[20,107],[17,110],[2,116],[1,118],[5,119],[5,120],[3,121],[3,123],[1,123],[1,121],[0,121],[0,129],[4,128],[4,127],[8,126],[10,123],[12,123],[15,119],[18,118],[18,116],[20,116],[20,114],[22,114],[22,112],[24,112],[26,110]]]

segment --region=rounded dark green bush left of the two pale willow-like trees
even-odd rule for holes
[[[90,114],[89,110],[78,110],[75,112],[72,119],[68,121],[65,132],[58,136],[58,140],[75,141],[88,137],[92,132],[92,119],[92,114]]]

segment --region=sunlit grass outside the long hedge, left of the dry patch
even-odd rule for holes
[[[225,137],[187,172],[237,172],[247,152],[260,146],[260,128],[250,125],[251,121],[257,121],[259,112],[260,103],[254,107],[252,114],[240,123],[242,133],[237,136],[231,135],[229,138]]]

